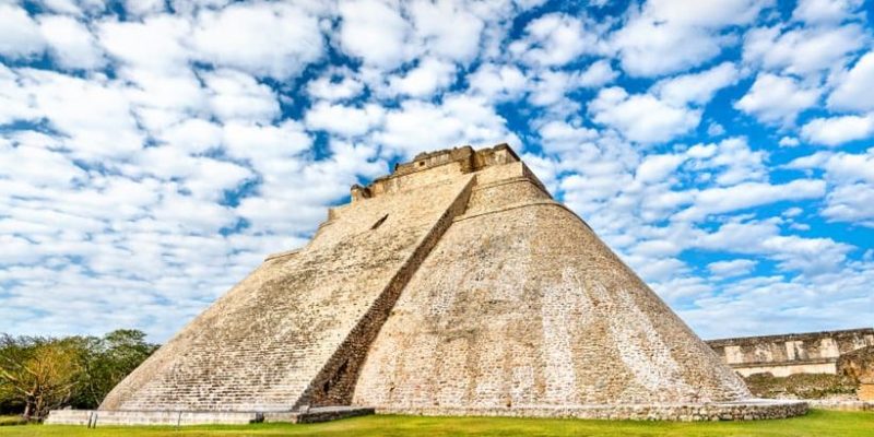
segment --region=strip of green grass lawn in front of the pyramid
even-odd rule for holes
[[[607,422],[504,417],[365,416],[310,425],[97,427],[23,425],[0,436],[874,436],[874,413],[812,411],[757,422]]]

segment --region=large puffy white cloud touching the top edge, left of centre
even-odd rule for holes
[[[202,11],[191,38],[202,60],[276,79],[297,75],[324,50],[318,15],[286,3]]]

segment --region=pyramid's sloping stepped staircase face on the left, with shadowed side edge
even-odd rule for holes
[[[370,339],[411,271],[466,203],[471,184],[469,175],[437,177],[427,196],[399,191],[333,210],[307,247],[271,257],[101,409],[287,411],[347,403]]]

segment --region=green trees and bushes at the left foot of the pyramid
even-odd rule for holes
[[[0,334],[0,414],[42,421],[50,410],[95,409],[157,347],[131,329],[104,336]]]

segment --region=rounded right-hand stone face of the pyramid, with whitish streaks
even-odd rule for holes
[[[531,412],[749,397],[522,165],[481,176],[373,344],[354,403]]]

